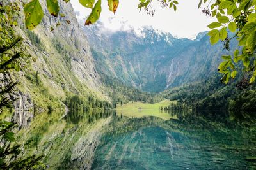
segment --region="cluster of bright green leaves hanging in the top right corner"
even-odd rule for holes
[[[217,0],[209,1],[209,4],[211,4],[212,17],[218,20],[208,25],[212,29],[208,32],[211,44],[214,45],[220,40],[229,42],[230,39],[236,38],[241,46],[238,48],[240,50],[235,50],[233,56],[228,55],[230,59],[222,57],[225,61],[221,62],[220,66],[225,66],[223,67],[225,69],[219,66],[219,71],[224,74],[223,82],[228,83],[230,77],[236,76],[238,70],[233,69],[233,66],[241,61],[243,70],[251,76],[250,83],[253,83],[256,67],[256,0]],[[229,36],[231,32],[232,36]],[[226,66],[234,71],[227,73]]]

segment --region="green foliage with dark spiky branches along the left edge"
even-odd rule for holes
[[[22,49],[22,38],[15,34],[17,25],[17,10],[20,10],[16,3],[0,3],[0,114],[4,108],[11,108],[15,99],[12,92],[17,82],[9,77],[12,71],[24,69],[26,55]],[[32,169],[42,167],[40,160],[42,155],[36,157],[19,157],[21,146],[17,145],[15,134],[12,132],[15,124],[0,120],[0,169]]]

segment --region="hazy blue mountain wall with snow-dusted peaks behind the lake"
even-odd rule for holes
[[[82,28],[99,73],[148,92],[204,80],[217,73],[220,56],[228,53],[222,43],[212,46],[207,32],[190,40],[152,27],[109,31],[98,22]]]

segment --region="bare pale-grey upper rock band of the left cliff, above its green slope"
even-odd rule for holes
[[[65,3],[65,1],[59,1],[60,13],[65,14],[65,18],[54,18],[49,17],[49,13],[46,10],[46,1],[41,1],[44,8],[45,17],[42,20],[42,24],[36,32],[38,32],[40,37],[44,37],[48,41],[60,41],[61,45],[67,50],[71,62],[71,71],[75,73],[75,76],[79,78],[88,87],[95,90],[99,90],[100,81],[97,71],[95,71],[95,64],[93,61],[92,53],[90,52],[90,46],[86,40],[84,32],[81,31],[81,27],[77,22],[74,9],[70,3]],[[70,21],[67,24],[65,21]],[[60,26],[54,27],[58,22],[61,23]],[[54,27],[54,31],[49,31],[50,27]],[[41,33],[44,32],[44,33]]]

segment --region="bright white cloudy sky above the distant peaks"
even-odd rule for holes
[[[156,1],[156,0],[154,0]],[[179,0],[177,11],[173,8],[161,8],[154,4],[154,17],[151,17],[137,9],[138,0],[120,0],[116,14],[108,10],[107,0],[102,0],[102,13],[100,20],[105,27],[113,31],[120,29],[140,29],[143,26],[151,26],[164,32],[170,32],[178,38],[195,38],[199,32],[209,31],[207,25],[214,21],[214,18],[206,17],[198,9],[198,0]],[[157,1],[156,1],[157,2]],[[90,15],[90,8],[84,8],[78,0],[71,0],[77,18],[83,19]]]

